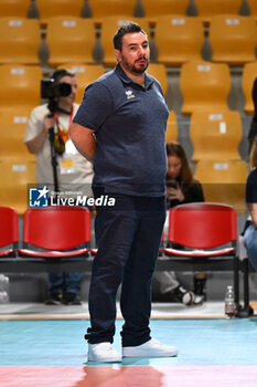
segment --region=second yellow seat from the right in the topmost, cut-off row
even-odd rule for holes
[[[194,4],[206,25],[216,14],[239,14],[242,0],[194,0]]]

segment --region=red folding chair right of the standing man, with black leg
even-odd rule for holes
[[[190,265],[193,271],[234,271],[239,310],[237,213],[233,207],[212,202],[174,207],[169,212],[168,245],[163,252],[175,261],[176,270],[189,270]]]

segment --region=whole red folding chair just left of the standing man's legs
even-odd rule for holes
[[[89,251],[89,242],[88,209],[71,206],[34,208],[24,213],[19,254],[46,259],[85,257]]]

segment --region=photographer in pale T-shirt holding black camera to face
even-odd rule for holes
[[[36,155],[36,182],[50,190],[90,195],[93,169],[69,139],[69,124],[78,105],[74,103],[77,80],[62,69],[49,82],[42,81],[42,97],[49,102],[35,107],[29,121],[24,143]],[[47,304],[79,304],[83,273],[51,273]],[[65,282],[65,289],[64,289]]]

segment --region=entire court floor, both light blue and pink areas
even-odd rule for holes
[[[120,351],[117,320],[115,347]],[[178,357],[87,363],[88,320],[1,320],[1,387],[256,387],[257,320],[152,320]]]

